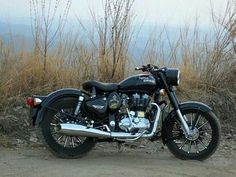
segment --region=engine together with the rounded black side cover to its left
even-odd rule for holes
[[[107,116],[112,131],[120,129],[125,132],[143,132],[150,128],[151,98],[146,93],[119,94],[112,92],[107,96],[91,98],[85,104],[86,108],[98,118]],[[112,114],[117,113],[118,114]]]

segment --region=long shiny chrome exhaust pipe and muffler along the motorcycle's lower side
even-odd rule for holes
[[[144,133],[124,133],[124,132],[111,132],[111,131],[102,131],[92,127],[86,127],[83,125],[78,124],[59,124],[57,126],[57,131],[68,135],[68,136],[84,136],[84,137],[94,137],[94,138],[119,138],[119,139],[134,139],[134,138],[141,138],[141,137],[152,137],[156,132],[158,121],[160,118],[160,108],[156,103],[152,103],[157,108],[157,114],[154,121],[152,132],[149,134]]]

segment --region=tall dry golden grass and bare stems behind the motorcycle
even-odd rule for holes
[[[229,1],[223,17],[217,18],[213,13],[216,24],[213,35],[200,34],[196,24],[194,30],[180,29],[177,40],[172,40],[164,29],[164,33],[150,36],[143,56],[137,61],[129,53],[133,35],[130,29],[132,1],[117,2],[122,3],[105,1],[104,17],[99,22],[92,13],[99,36],[98,45],[92,36],[88,44],[78,35],[68,38],[61,33],[56,47],[47,50],[46,67],[44,55],[35,55],[35,51],[27,52],[26,49],[16,51],[14,43],[6,44],[0,40],[1,110],[27,95],[47,94],[63,87],[79,88],[88,79],[118,82],[127,76],[126,70],[130,70],[132,63],[153,63],[181,69],[178,94],[183,100],[209,103],[221,120],[234,121],[235,3]],[[116,6],[120,7],[119,10],[113,11]],[[38,42],[36,40],[35,45]]]

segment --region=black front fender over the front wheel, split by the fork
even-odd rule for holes
[[[196,109],[201,110],[202,112],[209,112],[212,111],[212,108],[207,106],[204,103],[197,102],[197,101],[187,101],[179,104],[180,111],[188,110],[188,109]],[[176,115],[176,111],[172,110],[163,120],[162,122],[162,141],[166,144],[168,139],[168,132],[167,126],[168,121]]]

